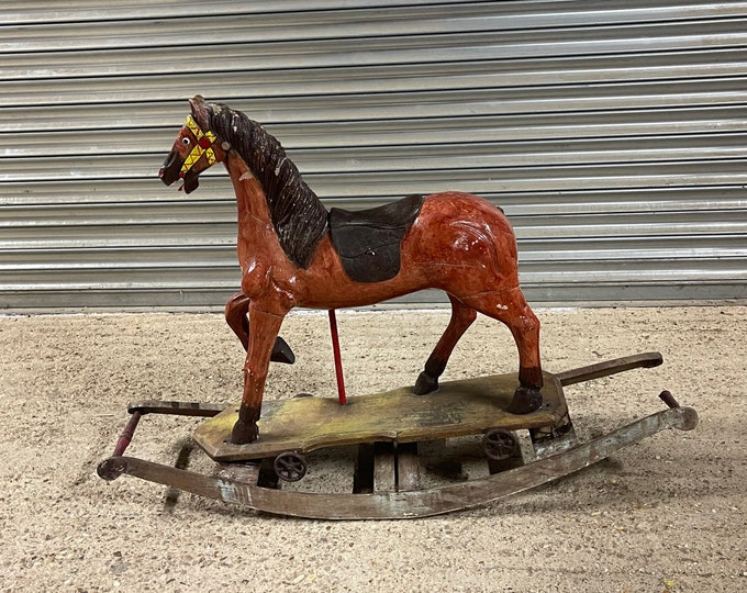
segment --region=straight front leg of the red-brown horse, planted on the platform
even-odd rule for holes
[[[238,409],[238,419],[231,433],[231,443],[243,445],[252,443],[259,436],[257,421],[261,413],[261,399],[265,392],[265,380],[270,363],[272,345],[275,344],[285,314],[268,313],[249,305],[252,334],[244,363],[244,396]]]

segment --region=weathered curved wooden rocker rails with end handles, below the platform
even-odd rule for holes
[[[573,384],[633,368],[661,363],[658,353],[636,355],[555,374],[560,384]],[[235,479],[225,472],[203,475],[170,466],[123,456],[142,413],[177,413],[214,416],[224,406],[152,402],[142,404],[118,443],[114,455],[98,468],[99,475],[114,480],[122,474],[174,486],[208,499],[236,504],[265,513],[320,519],[393,519],[414,518],[465,510],[497,501],[551,482],[591,466],[615,451],[655,435],[665,428],[691,430],[698,425],[698,414],[691,407],[680,407],[667,391],[660,398],[667,410],[645,416],[612,433],[570,448],[535,448],[537,459],[515,469],[488,478],[448,484],[428,490],[374,493],[303,493],[285,492]],[[571,428],[572,430],[572,428]],[[575,441],[575,437],[573,437]],[[560,452],[556,452],[556,451]],[[547,456],[544,456],[547,452]]]

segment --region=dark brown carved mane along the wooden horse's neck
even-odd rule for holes
[[[280,142],[258,122],[221,103],[211,108],[210,128],[238,153],[265,190],[280,246],[291,261],[308,268],[327,232],[324,204],[303,181]]]

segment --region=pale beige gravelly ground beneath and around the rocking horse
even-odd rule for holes
[[[537,314],[549,371],[664,354],[661,367],[567,388],[579,436],[660,410],[662,389],[698,410],[699,427],[511,499],[403,522],[272,517],[98,478],[127,402],[238,400],[243,351],[221,316],[0,317],[0,591],[747,590],[747,307]],[[412,384],[447,317],[339,312],[348,393]],[[298,361],[274,366],[266,398],[334,395],[326,316],[294,313],[282,335]],[[509,332],[481,317],[445,379],[515,366]],[[129,454],[167,463],[199,422],[146,418]],[[321,460],[321,488],[349,479],[334,462]]]

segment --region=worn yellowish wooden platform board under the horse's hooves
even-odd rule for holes
[[[555,426],[568,409],[557,378],[545,373],[544,380],[544,406],[526,415],[505,412],[519,385],[516,374],[498,374],[444,382],[427,395],[400,388],[353,396],[347,405],[332,398],[311,396],[265,402],[259,439],[247,445],[228,440],[238,413],[235,404],[204,421],[193,439],[215,461],[246,461],[357,443],[416,443],[475,435],[494,427],[517,430]]]

